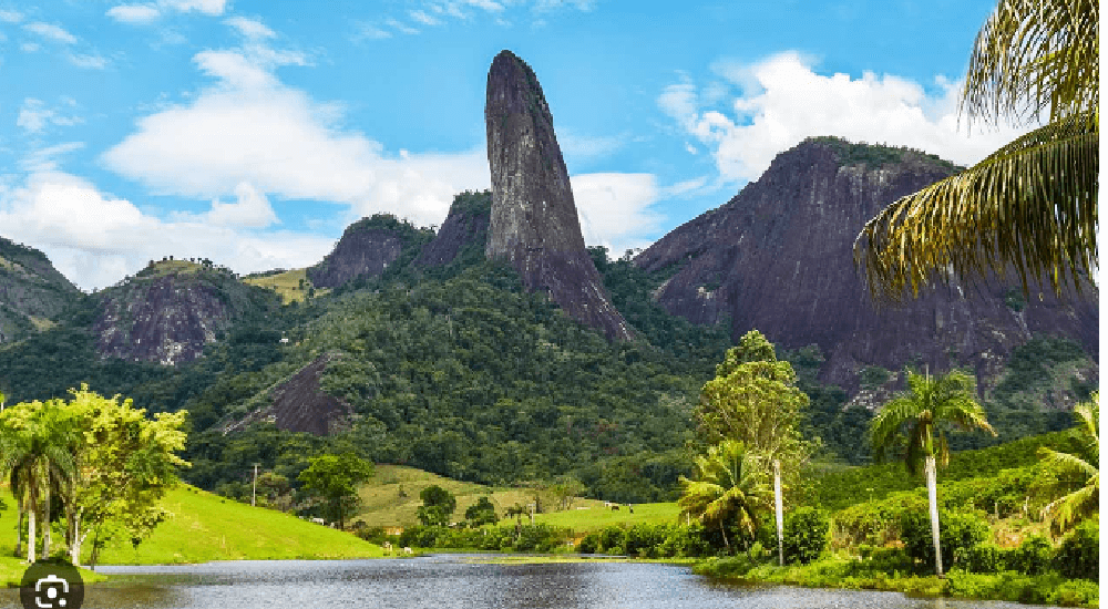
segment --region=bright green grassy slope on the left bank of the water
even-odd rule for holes
[[[7,493],[6,493],[7,494]],[[16,509],[0,513],[0,550],[9,554],[16,543]],[[102,565],[154,565],[208,560],[279,558],[369,558],[382,556],[379,546],[352,534],[335,530],[270,509],[255,508],[182,485],[163,505],[173,516],[160,524],[138,548],[126,539],[110,544],[100,555]],[[55,530],[55,539],[61,534]],[[88,562],[91,538],[82,561]],[[19,569],[22,572],[22,568]],[[0,576],[8,572],[0,562]]]

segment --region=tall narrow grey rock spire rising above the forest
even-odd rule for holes
[[[492,214],[485,255],[506,258],[529,290],[544,290],[609,339],[632,329],[612,306],[585,250],[570,175],[543,90],[531,68],[502,51],[489,69],[485,131]]]

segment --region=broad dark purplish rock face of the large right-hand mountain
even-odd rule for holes
[[[1012,282],[994,281],[874,304],[854,268],[854,237],[888,204],[954,171],[914,151],[809,138],[635,264],[650,271],[680,267],[656,293],[669,312],[697,323],[729,316],[736,339],[756,328],[787,349],[818,343],[827,358],[821,379],[848,389],[856,389],[863,367],[910,362],[932,370],[970,365],[987,380],[1037,333],[1073,339],[1096,358],[1091,286],[1086,298],[1064,302],[1036,289],[1024,303]]]

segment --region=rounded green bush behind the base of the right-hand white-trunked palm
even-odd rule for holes
[[[943,551],[943,570],[964,561],[973,547],[988,538],[988,524],[972,512],[940,510],[938,545]],[[901,540],[912,558],[930,568],[935,564],[935,547],[931,539],[931,516],[926,512],[906,512],[901,516]]]

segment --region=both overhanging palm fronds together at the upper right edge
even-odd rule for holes
[[[1049,122],[973,167],[902,197],[854,241],[870,291],[913,296],[950,271],[1014,268],[1056,293],[1097,267],[1098,0],[1002,0],[977,33],[960,111]]]

